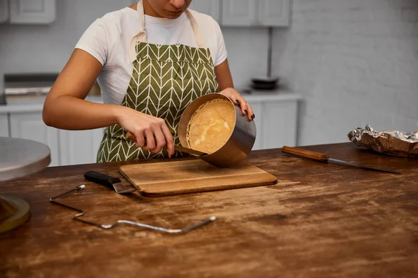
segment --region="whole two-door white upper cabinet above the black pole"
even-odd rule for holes
[[[291,0],[223,0],[222,26],[288,26]]]

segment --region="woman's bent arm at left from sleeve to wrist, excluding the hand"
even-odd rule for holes
[[[75,49],[45,99],[42,118],[57,129],[97,129],[118,122],[118,107],[84,99],[102,65],[81,49]]]

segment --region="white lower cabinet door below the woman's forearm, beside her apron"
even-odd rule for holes
[[[59,131],[61,165],[95,163],[104,129]]]

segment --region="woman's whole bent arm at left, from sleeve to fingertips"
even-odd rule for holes
[[[42,111],[45,124],[68,130],[121,124],[135,135],[138,147],[157,153],[167,145],[171,156],[174,140],[164,120],[125,106],[84,100],[101,70],[98,60],[86,51],[75,49],[45,99]]]

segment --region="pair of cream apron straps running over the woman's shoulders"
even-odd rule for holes
[[[205,40],[203,40],[203,36],[201,35],[201,31],[199,28],[199,24],[194,19],[194,16],[190,11],[187,9],[185,10],[187,15],[189,16],[190,23],[192,24],[192,29],[194,32],[194,37],[196,38],[197,45],[199,48],[205,48]],[[144,5],[142,4],[142,0],[139,0],[137,3],[137,13],[139,16],[139,32],[137,35],[131,40],[130,48],[129,48],[129,58],[130,63],[134,63],[137,60],[137,42],[146,42],[146,31],[145,31],[145,14],[144,14]]]

